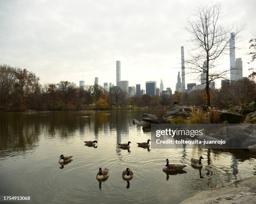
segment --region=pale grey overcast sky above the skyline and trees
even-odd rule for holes
[[[210,2],[210,1],[209,1]],[[215,2],[215,1],[211,1]],[[256,0],[225,0],[223,23],[246,23],[236,46],[248,76],[248,40],[256,32]],[[41,84],[68,80],[115,84],[115,61],[129,86],[162,78],[175,90],[180,47],[192,48],[186,18],[206,0],[0,0],[0,64],[26,68]],[[229,56],[220,66],[230,67]],[[186,79],[186,84],[195,79]],[[197,81],[197,83],[199,83]],[[220,82],[217,82],[220,86]]]

